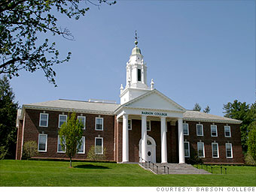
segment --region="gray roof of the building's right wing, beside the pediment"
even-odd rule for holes
[[[227,117],[221,117],[218,115],[212,115],[209,113],[202,113],[199,111],[191,111],[187,110],[183,114],[184,120],[197,120],[200,119],[200,121],[215,121],[215,122],[230,122],[230,123],[236,123],[240,124],[242,121],[233,119],[233,118],[227,118]]]

